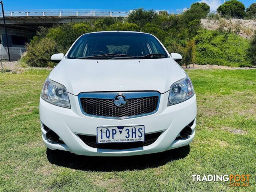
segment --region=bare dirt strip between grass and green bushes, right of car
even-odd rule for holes
[[[228,67],[228,66],[222,66],[222,65],[198,65],[198,64],[193,64],[190,65],[191,68],[186,68],[185,65],[182,66],[182,68],[187,69],[187,70],[195,70],[195,69],[228,69],[228,70],[237,70],[237,69],[256,69],[255,67]]]

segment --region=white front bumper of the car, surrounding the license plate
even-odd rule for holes
[[[196,127],[196,95],[172,106],[167,106],[169,92],[161,94],[156,113],[128,119],[108,119],[86,116],[82,113],[78,96],[69,94],[72,109],[52,105],[40,98],[40,120],[44,144],[54,150],[70,151],[88,156],[131,156],[163,152],[192,142]],[[180,131],[194,120],[192,134],[187,139],[178,139]],[[51,143],[46,139],[43,124],[53,130],[62,143]],[[96,136],[99,126],[133,126],[144,125],[145,134],[162,132],[156,141],[148,146],[122,150],[99,149],[86,145],[78,135]]]

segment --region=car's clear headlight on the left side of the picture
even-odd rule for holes
[[[70,108],[68,91],[62,84],[54,82],[47,78],[44,82],[41,98],[51,104]]]

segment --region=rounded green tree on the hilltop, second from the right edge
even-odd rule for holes
[[[217,12],[225,18],[242,19],[245,16],[245,6],[238,0],[230,0],[220,5]]]

